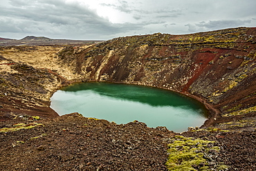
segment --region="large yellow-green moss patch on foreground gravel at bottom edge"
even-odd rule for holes
[[[169,157],[165,163],[168,170],[212,170],[208,165],[211,160],[209,154],[220,150],[219,147],[214,146],[214,141],[183,136],[173,137],[168,147]],[[223,167],[227,168],[226,165],[215,165],[214,170]]]

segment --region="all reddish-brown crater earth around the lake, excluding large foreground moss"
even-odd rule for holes
[[[72,114],[57,117],[49,108],[57,88],[109,81],[165,88],[201,101],[210,111],[202,128],[217,132],[183,135],[219,144],[220,152],[208,159],[210,167],[223,163],[230,170],[255,170],[255,36],[255,28],[233,28],[119,37],[91,46],[0,48],[0,119],[8,120],[0,128],[31,123],[22,119],[29,118],[26,115],[44,119],[36,121],[44,127],[0,132],[1,168],[166,170],[167,139],[174,132],[143,123],[115,125]]]

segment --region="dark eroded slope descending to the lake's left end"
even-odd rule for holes
[[[38,70],[22,63],[12,64],[10,70],[12,72],[1,72],[0,120],[28,114],[58,116],[48,108],[48,97],[54,86],[60,83],[60,79],[47,70]]]

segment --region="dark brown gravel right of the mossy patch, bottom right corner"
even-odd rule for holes
[[[207,137],[217,141],[221,151],[217,162],[224,163],[228,170],[256,170],[256,132],[185,132],[184,137]]]

